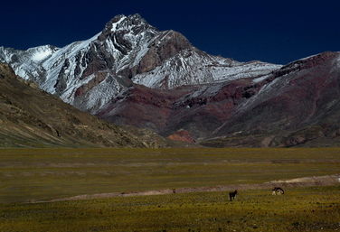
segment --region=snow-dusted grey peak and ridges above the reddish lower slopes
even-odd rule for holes
[[[179,32],[160,32],[139,15],[118,15],[87,41],[63,48],[45,45],[16,51],[0,47],[0,61],[47,92],[95,114],[133,83],[176,88],[256,79],[281,66],[247,63],[199,51]]]

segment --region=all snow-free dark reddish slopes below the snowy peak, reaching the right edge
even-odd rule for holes
[[[98,116],[209,146],[337,145],[339,60],[339,52],[324,52],[258,79],[170,90],[134,85]]]

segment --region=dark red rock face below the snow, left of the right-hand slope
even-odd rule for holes
[[[152,128],[165,136],[184,130],[195,140],[211,135],[235,107],[259,89],[250,79],[171,90],[134,85],[103,107],[98,116],[120,125]]]

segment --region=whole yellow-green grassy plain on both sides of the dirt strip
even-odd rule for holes
[[[340,173],[340,149],[2,149],[0,231],[336,231],[340,186],[49,203]]]

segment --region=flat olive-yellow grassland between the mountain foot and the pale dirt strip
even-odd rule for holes
[[[340,172],[340,149],[1,149],[0,202]]]

